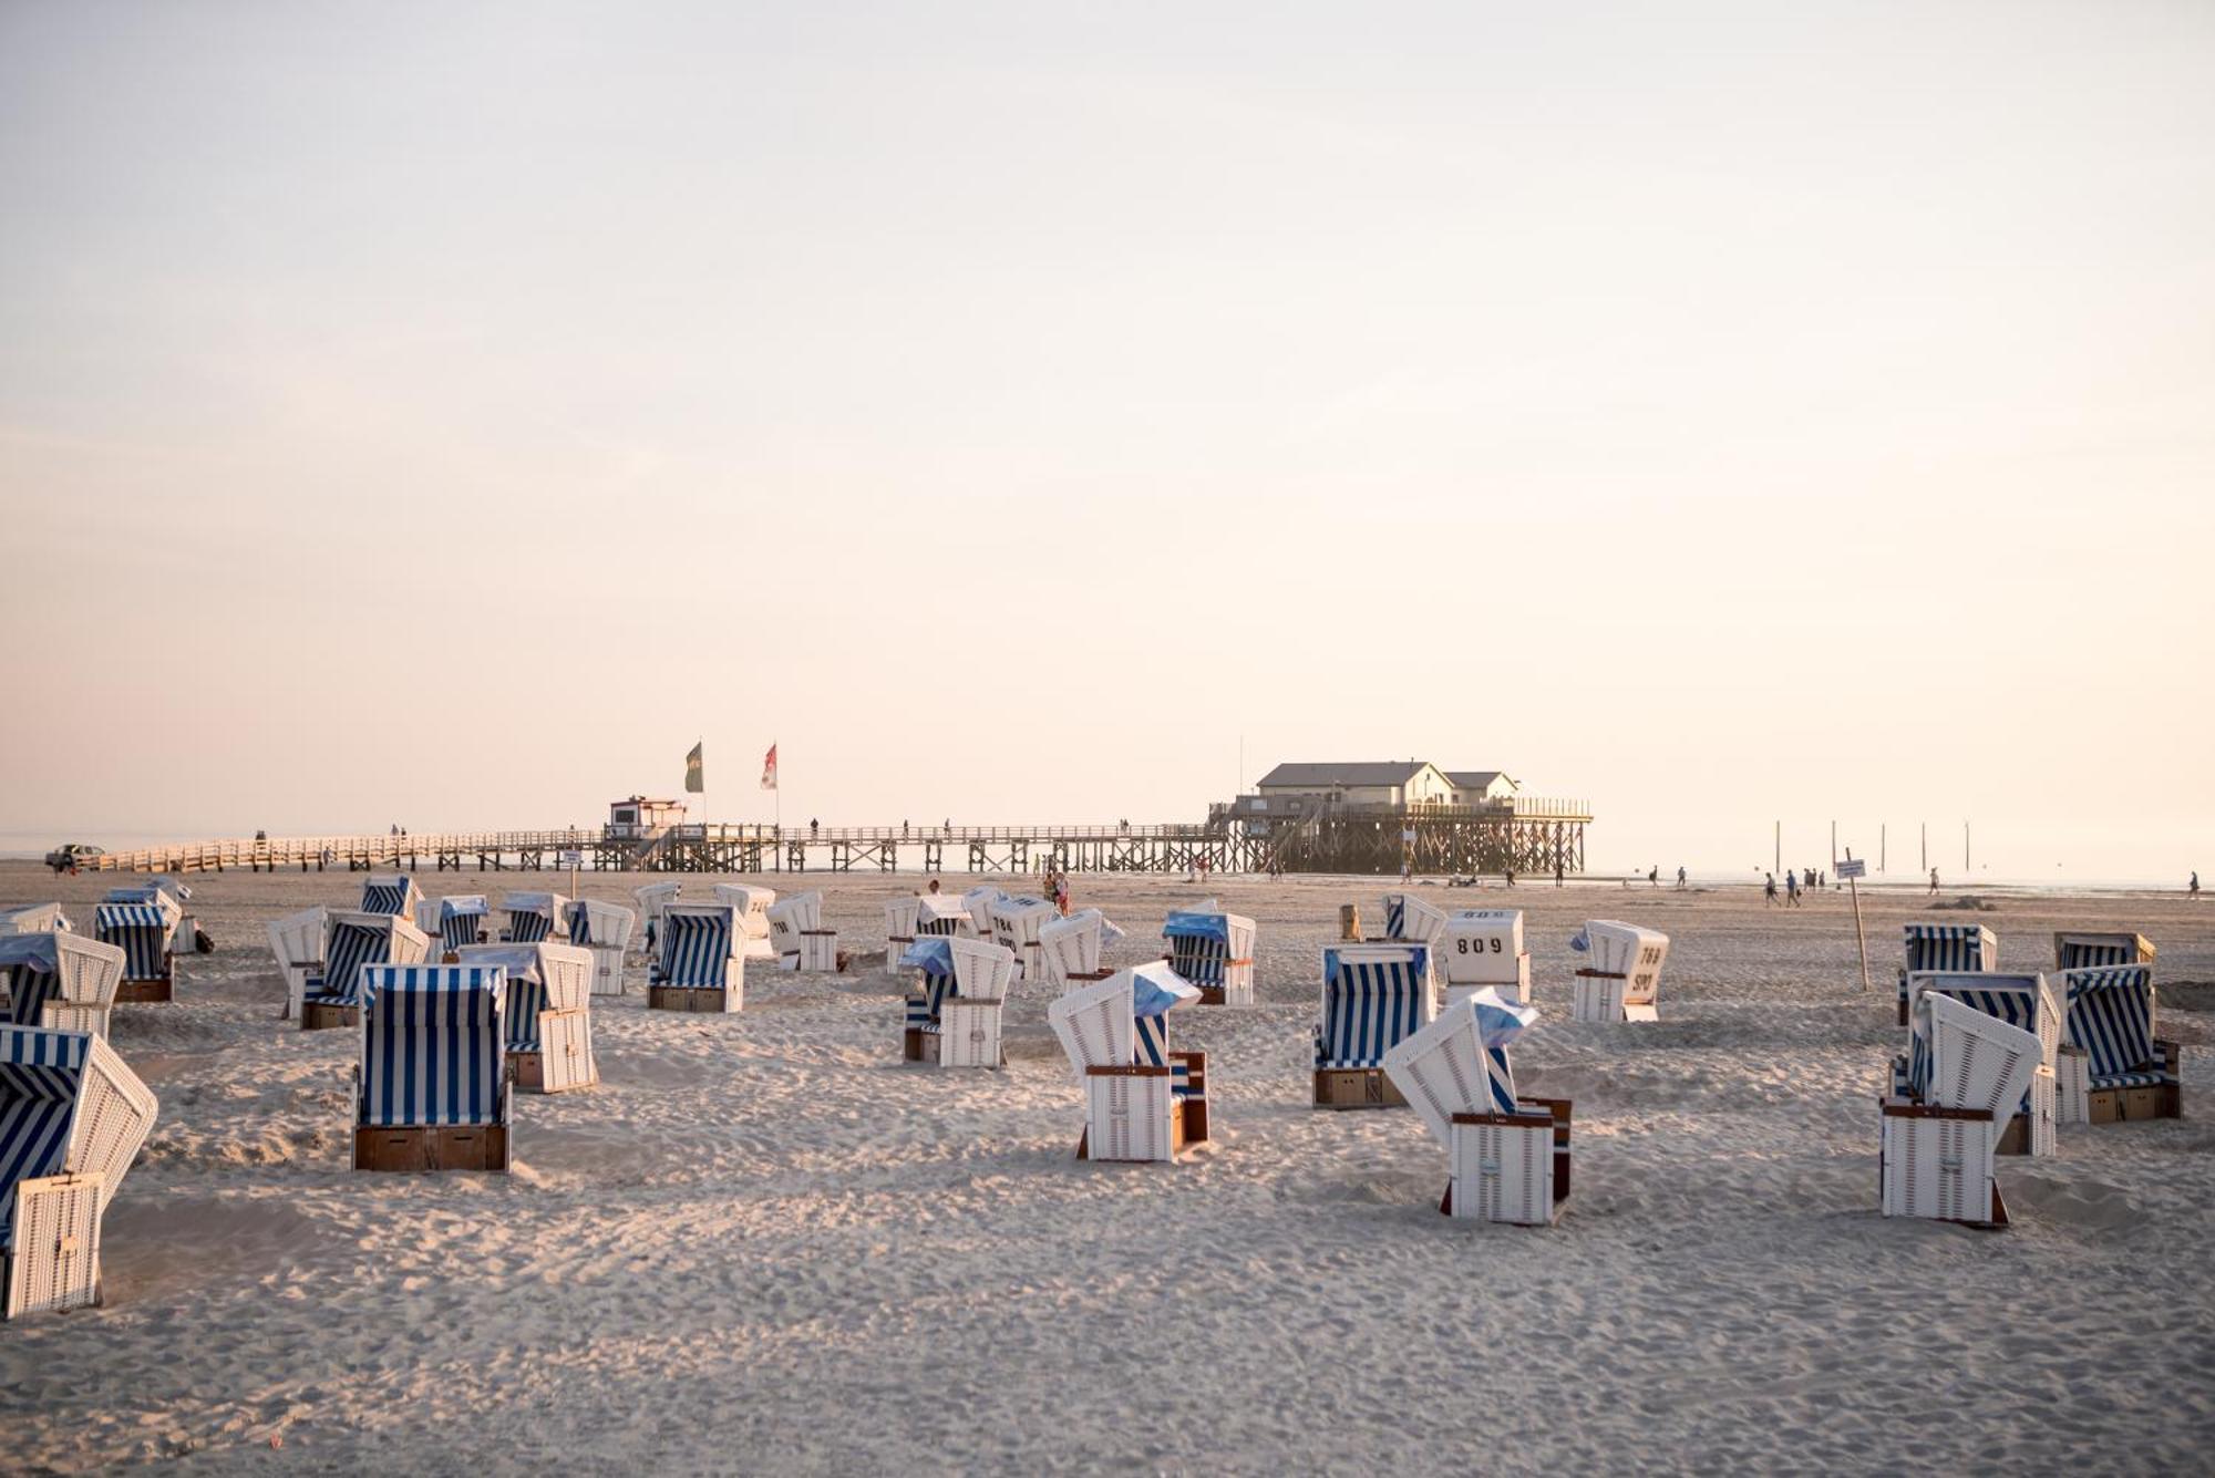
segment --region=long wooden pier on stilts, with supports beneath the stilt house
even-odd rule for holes
[[[667,825],[419,836],[272,836],[111,852],[95,872],[1584,872],[1590,814],[1553,808],[1325,810],[1256,836],[1225,821],[1165,825]]]

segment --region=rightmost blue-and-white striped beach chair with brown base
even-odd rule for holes
[[[2069,969],[2060,993],[2060,1122],[2182,1117],[2184,1049],[2155,1035],[2153,967]]]

